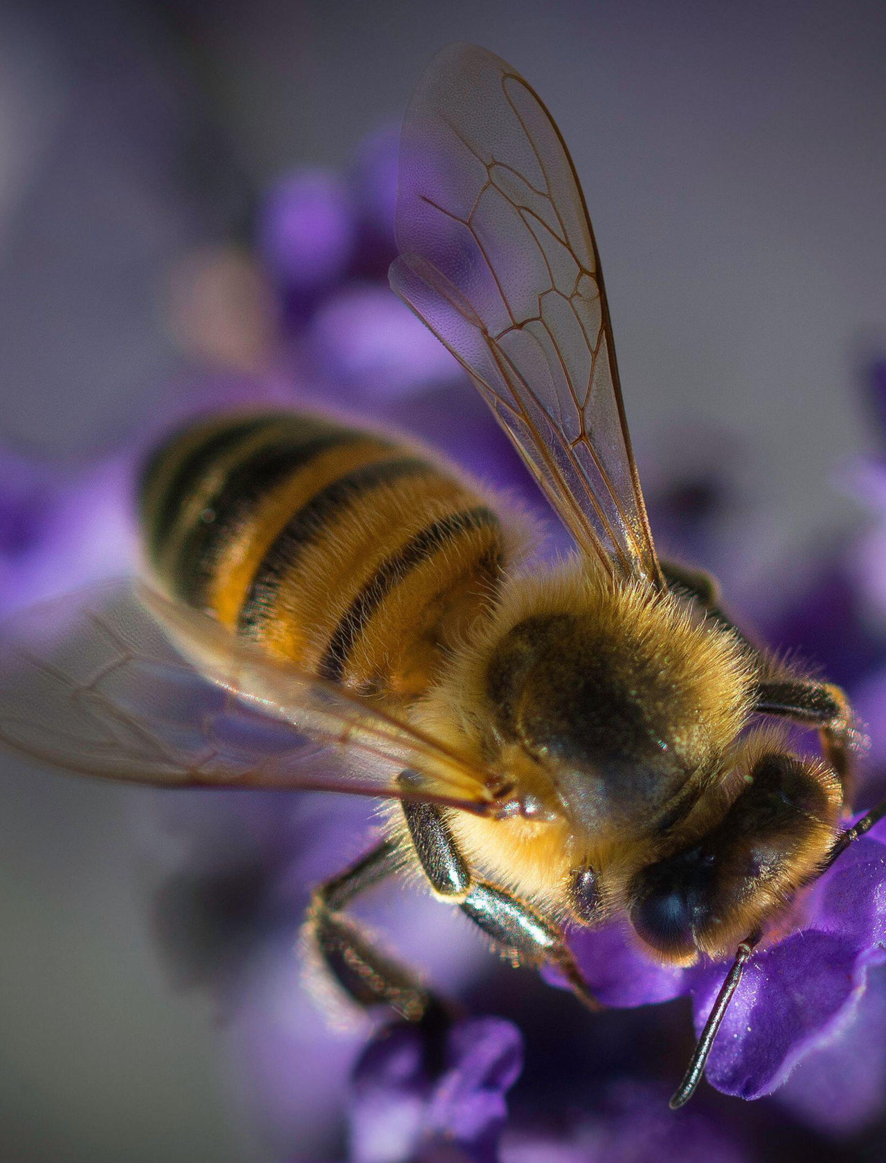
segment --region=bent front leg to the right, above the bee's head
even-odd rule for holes
[[[757,685],[753,711],[817,728],[821,750],[851,801],[851,748],[857,729],[849,699],[838,686],[807,678],[764,679]]]

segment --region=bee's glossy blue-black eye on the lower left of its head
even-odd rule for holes
[[[691,957],[709,919],[710,883],[710,858],[698,848],[652,864],[634,882],[630,923],[653,949]]]

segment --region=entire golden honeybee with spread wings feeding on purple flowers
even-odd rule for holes
[[[842,829],[858,733],[839,688],[778,664],[703,573],[660,562],[584,197],[548,110],[484,49],[430,64],[400,147],[394,292],[467,372],[576,542],[521,565],[522,522],[405,437],[331,416],[194,423],[145,468],[145,569],[3,630],[0,739],[165,786],[391,804],[313,892],[308,935],[362,1005],[434,994],[345,913],[419,869],[514,961],[592,1008],[570,926],[621,915],[650,957],[746,961]],[[816,729],[786,750],[776,716]]]

